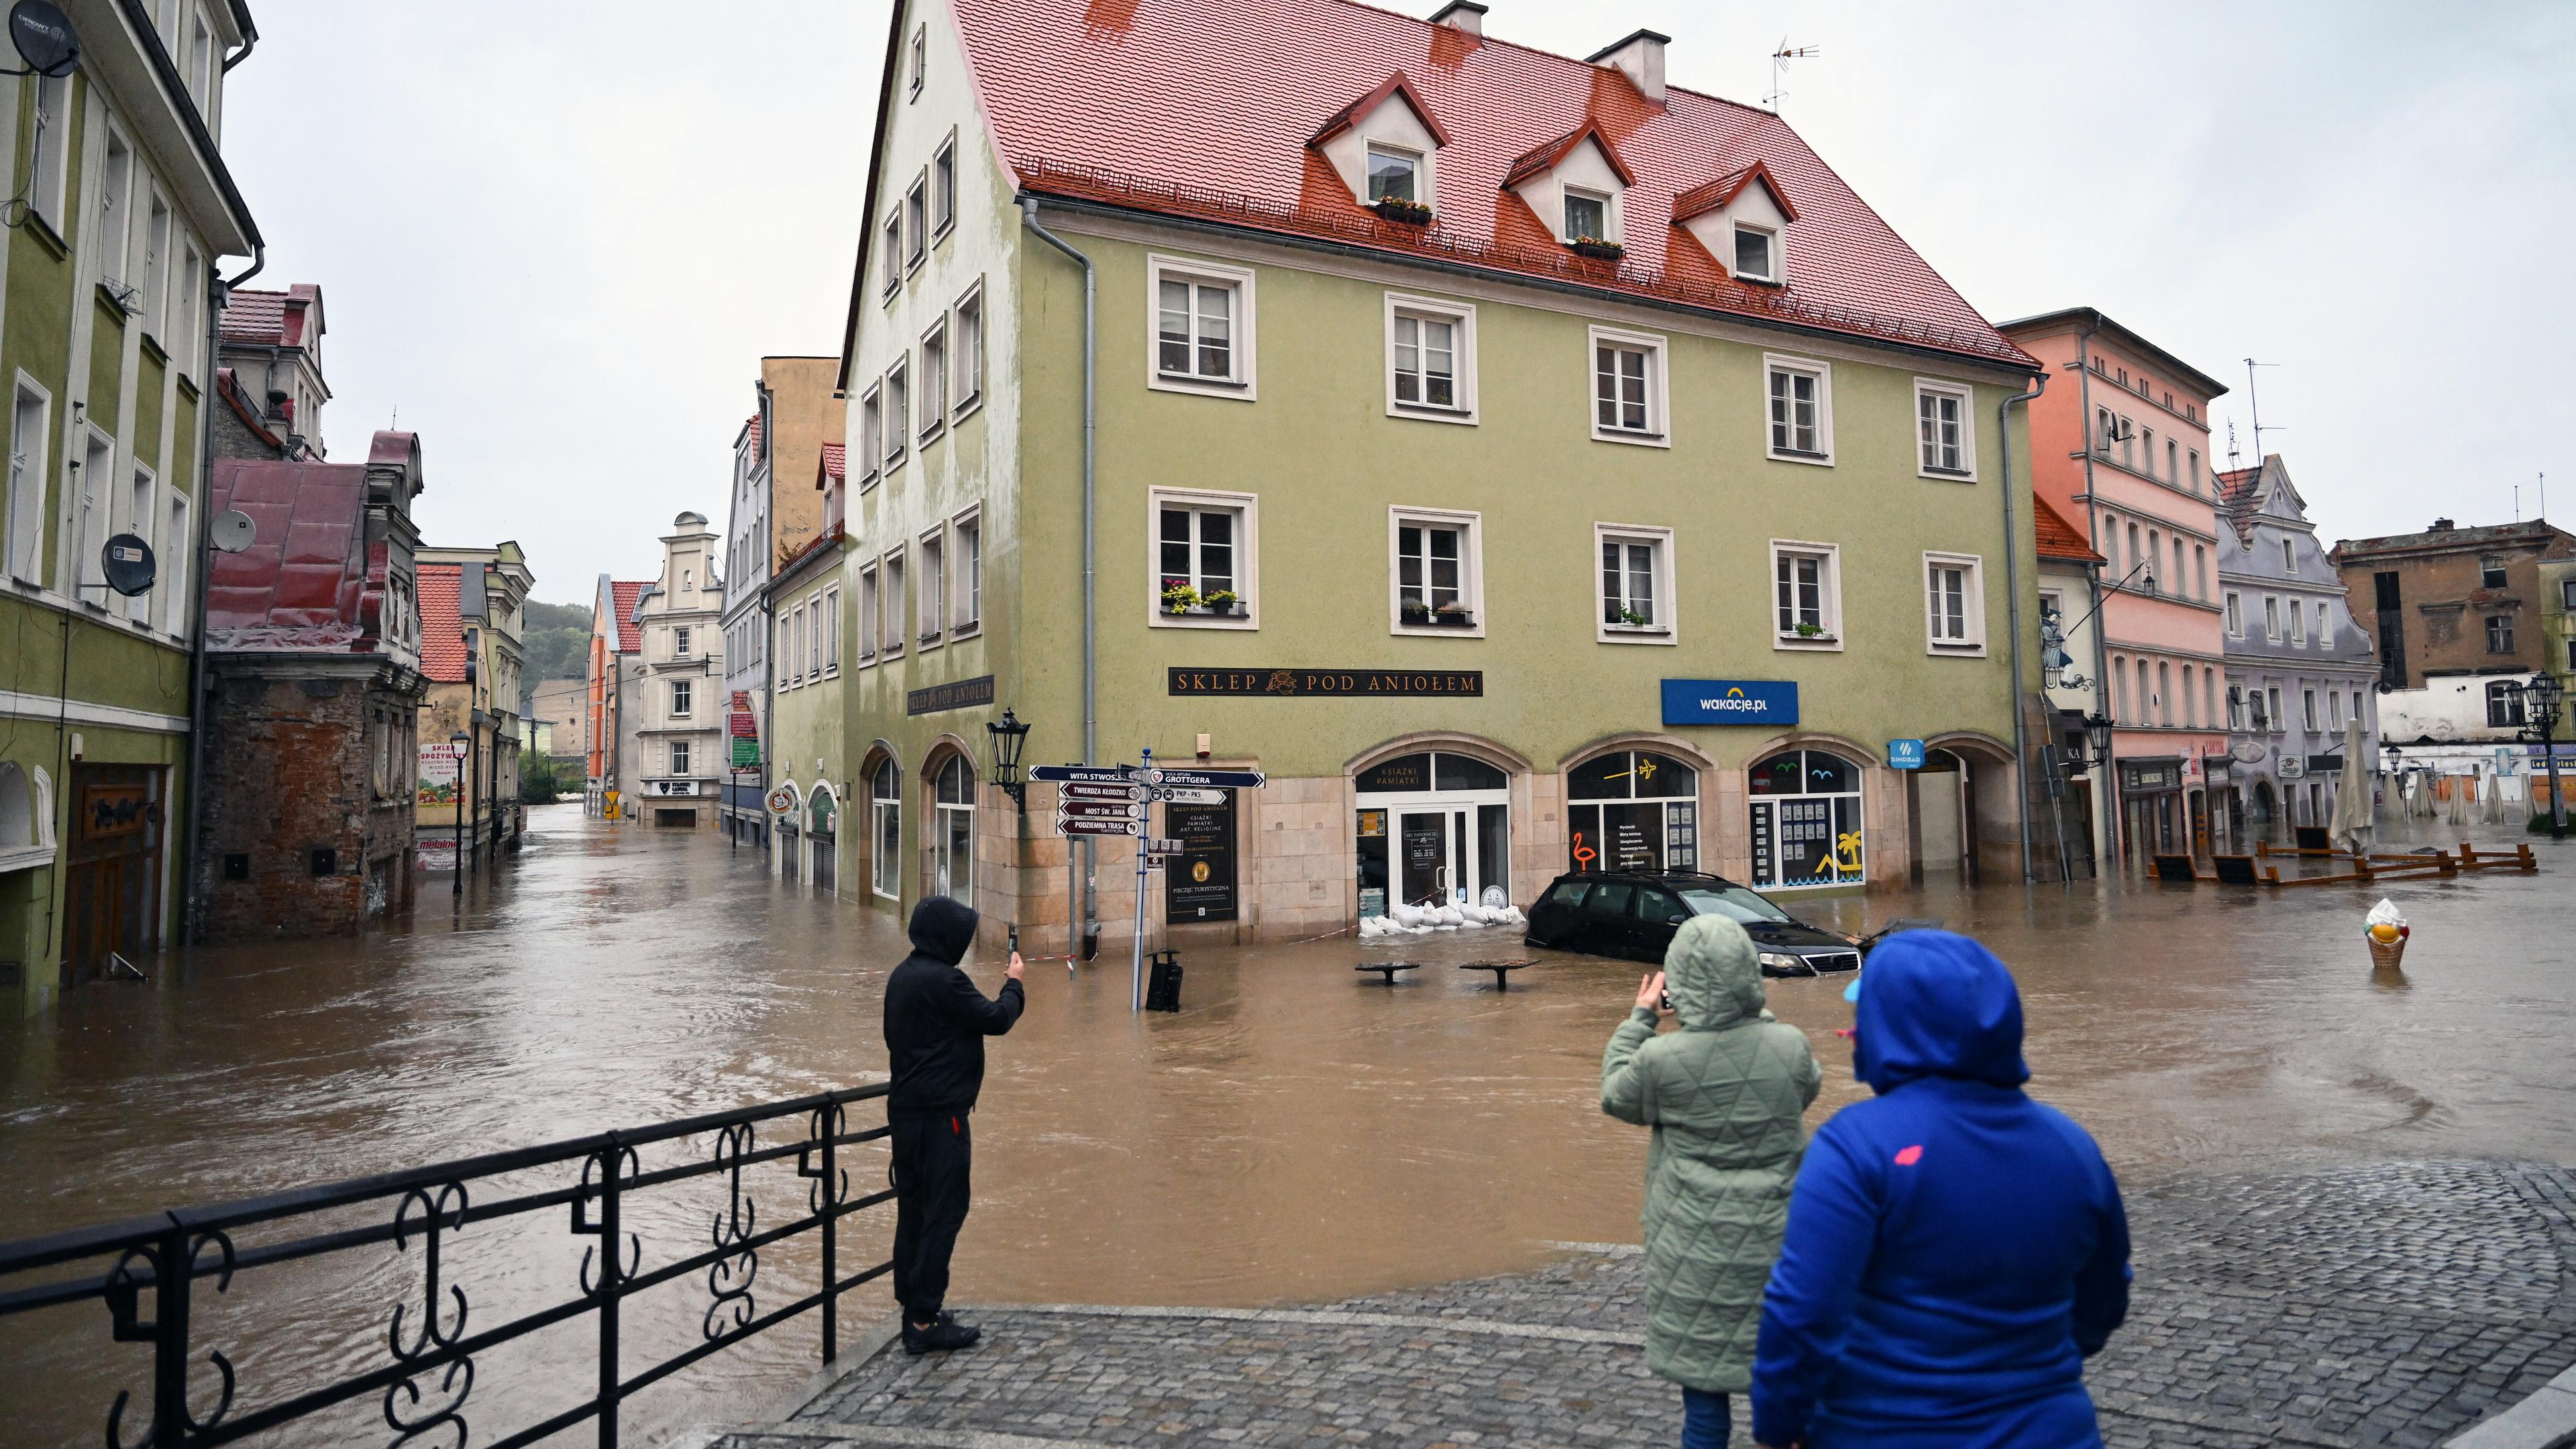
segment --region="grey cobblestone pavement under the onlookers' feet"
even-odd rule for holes
[[[2089,1364],[2112,1449],[2421,1446],[2576,1364],[2576,1176],[2385,1163],[2130,1196],[2138,1287]],[[1636,1248],[1327,1307],[994,1307],[719,1449],[1582,1446],[1680,1439]],[[1736,1403],[1736,1444],[1744,1403]]]

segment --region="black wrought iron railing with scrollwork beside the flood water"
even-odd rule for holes
[[[23,1392],[100,1385],[103,1397],[116,1374],[149,1379],[149,1405],[131,1403],[131,1390],[103,1405],[108,1449],[252,1436],[345,1444],[361,1441],[374,1410],[381,1428],[371,1434],[392,1428],[394,1446],[461,1449],[471,1436],[510,1449],[585,1421],[603,1446],[616,1444],[618,1408],[636,1392],[804,1312],[822,1310],[822,1361],[840,1354],[840,1297],[891,1269],[871,1250],[871,1266],[842,1271],[842,1220],[894,1196],[850,1194],[850,1165],[878,1160],[853,1147],[886,1134],[881,1119],[853,1132],[850,1106],[884,1096],[884,1083],[829,1091],[0,1243],[0,1328],[13,1330],[10,1356],[44,1343],[64,1364]],[[796,1134],[762,1145],[773,1124],[793,1124]],[[762,1225],[762,1199],[775,1217],[781,1196],[801,1196],[804,1212]],[[549,1212],[567,1222],[549,1227]],[[706,1245],[647,1263],[639,1227],[683,1222]],[[799,1238],[814,1240],[819,1263],[781,1250]],[[459,1263],[461,1248],[482,1248],[479,1263]],[[755,1294],[762,1253],[788,1261],[773,1263]],[[487,1269],[489,1297],[510,1310],[489,1328],[474,1323],[477,1305],[459,1281],[474,1266]],[[389,1310],[381,1292],[374,1307],[353,1302],[389,1279],[402,1284]],[[786,1302],[762,1305],[781,1279]],[[258,1292],[263,1281],[273,1292]],[[647,1305],[652,1323],[631,1320],[629,1307],[665,1287]],[[247,1299],[258,1305],[245,1312]],[[672,1299],[688,1310],[667,1312]],[[100,1312],[82,1318],[93,1305]],[[381,1338],[348,1323],[368,1312]],[[685,1323],[688,1312],[696,1323]],[[98,1328],[111,1343],[149,1343],[149,1366],[142,1354],[124,1364],[106,1343],[82,1343]],[[477,1361],[513,1343],[528,1346],[536,1364],[510,1377],[502,1403],[474,1400]],[[492,1423],[487,1408],[510,1428],[482,1428]]]

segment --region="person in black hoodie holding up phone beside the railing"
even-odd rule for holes
[[[984,998],[958,962],[974,944],[976,913],[933,895],[912,908],[912,954],[886,980],[886,1065],[894,1088],[886,1124],[894,1142],[894,1299],[904,1310],[904,1351],[963,1348],[984,1336],[945,1312],[948,1256],[966,1225],[966,1168],[974,1160],[974,1098],[984,1088],[984,1036],[1010,1031],[1028,998],[1020,951],[1010,954],[1002,995]]]

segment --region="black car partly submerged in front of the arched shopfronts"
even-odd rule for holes
[[[1860,946],[1780,910],[1770,897],[1703,874],[1564,874],[1530,908],[1528,944],[1595,957],[1664,962],[1692,915],[1728,915],[1762,951],[1767,977],[1857,972]]]

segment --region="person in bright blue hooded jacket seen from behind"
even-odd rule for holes
[[[1770,1449],[2099,1446],[2084,1359],[2128,1315],[2128,1217],[2092,1134],[2030,1101],[2012,972],[1950,931],[1870,951],[1754,1338]]]

